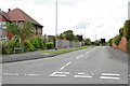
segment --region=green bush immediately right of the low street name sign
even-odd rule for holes
[[[23,45],[24,45],[25,52],[32,52],[32,51],[35,51],[35,47],[34,47],[34,45],[30,43],[29,40],[25,40]]]

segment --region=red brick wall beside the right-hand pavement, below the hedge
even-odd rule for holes
[[[125,37],[122,37],[119,42],[119,45],[116,45],[115,43],[113,43],[112,46],[126,51],[126,44],[127,44],[127,39]]]

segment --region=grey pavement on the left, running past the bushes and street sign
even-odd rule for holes
[[[15,61],[25,61],[25,60],[34,60],[44,57],[52,57],[56,54],[47,54],[44,52],[55,51],[55,49],[47,49],[47,51],[38,51],[38,52],[28,52],[23,54],[13,54],[13,55],[4,55],[0,57],[0,62],[15,62]]]

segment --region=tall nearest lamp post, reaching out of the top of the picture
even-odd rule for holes
[[[57,0],[55,0],[55,51],[57,51]]]

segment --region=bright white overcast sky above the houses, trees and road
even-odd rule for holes
[[[56,0],[0,0],[0,9],[21,9],[43,25],[43,34],[55,35]],[[92,41],[118,34],[128,19],[129,0],[57,0],[57,33],[73,30]]]

